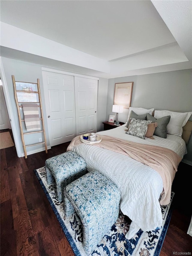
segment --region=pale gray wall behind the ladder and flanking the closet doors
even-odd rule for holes
[[[43,106],[43,113],[44,113],[44,122],[45,122],[45,131],[46,131],[46,139],[47,139],[47,146],[49,146],[49,134],[48,134],[48,127],[46,122],[46,111],[45,111],[45,98],[44,98],[44,88],[43,88],[43,79],[42,79],[42,71],[41,68],[42,65],[37,65],[29,62],[23,62],[19,60],[14,59],[7,59],[4,57],[1,57],[2,64],[4,68],[4,74],[5,79],[7,82],[7,89],[9,92],[10,102],[11,102],[11,108],[13,111],[14,116],[14,122],[16,125],[16,133],[19,139],[19,147],[21,150],[21,153],[24,153],[22,141],[21,141],[21,134],[20,134],[20,128],[19,128],[19,119],[14,99],[14,91],[13,91],[13,82],[11,75],[15,76],[16,81],[24,81],[24,82],[31,82],[31,83],[37,83],[37,78],[40,80],[40,89],[41,89],[41,99],[42,99],[42,106]],[[44,66],[45,67],[45,66]],[[53,67],[50,67],[53,68]],[[108,79],[101,78],[98,83],[98,131],[101,131],[102,128],[102,122],[105,121],[106,116],[106,104],[107,104],[107,89],[108,89]],[[103,107],[104,106],[104,107]],[[25,127],[25,126],[23,126]],[[25,128],[24,128],[25,132]],[[25,135],[26,137],[26,145],[27,144],[34,144],[38,143],[39,141],[39,134],[30,134]],[[42,145],[32,146],[27,148],[27,152],[40,149]]]

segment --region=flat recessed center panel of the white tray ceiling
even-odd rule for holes
[[[106,60],[175,42],[151,1],[1,1],[1,21]]]

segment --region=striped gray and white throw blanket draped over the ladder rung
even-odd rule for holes
[[[40,130],[40,119],[39,119],[39,110],[38,104],[22,104],[23,114],[25,120],[25,126],[27,131],[36,131]]]

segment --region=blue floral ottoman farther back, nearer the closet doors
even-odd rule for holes
[[[73,180],[86,173],[85,160],[73,151],[65,152],[45,161],[47,183],[54,182],[57,188],[57,199],[63,201],[63,191]]]

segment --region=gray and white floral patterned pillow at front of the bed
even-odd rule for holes
[[[145,140],[145,134],[150,123],[152,123],[152,121],[130,118],[130,126],[126,134],[137,136]]]

